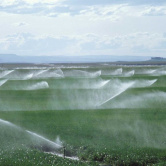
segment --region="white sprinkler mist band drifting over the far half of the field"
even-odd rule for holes
[[[164,68],[75,67],[1,68],[1,110],[165,107]]]

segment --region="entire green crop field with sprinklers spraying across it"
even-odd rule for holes
[[[165,126],[165,66],[1,67],[2,166],[164,166]]]

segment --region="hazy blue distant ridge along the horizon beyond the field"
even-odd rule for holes
[[[146,56],[114,56],[114,55],[89,55],[89,56],[18,56],[16,54],[0,54],[0,63],[93,63],[117,61],[146,61]]]

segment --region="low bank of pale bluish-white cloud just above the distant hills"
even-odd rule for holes
[[[22,55],[149,55],[165,54],[163,34],[131,33],[115,37],[86,34],[79,36],[34,36],[14,34],[0,40],[0,52]]]

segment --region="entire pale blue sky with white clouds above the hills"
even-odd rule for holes
[[[1,0],[2,53],[166,57],[166,0]]]

